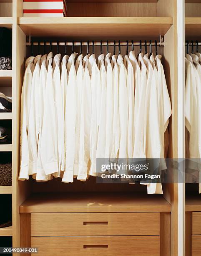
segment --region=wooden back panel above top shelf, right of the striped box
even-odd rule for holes
[[[67,2],[68,17],[156,17],[156,7],[156,3]]]

